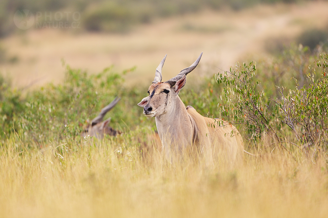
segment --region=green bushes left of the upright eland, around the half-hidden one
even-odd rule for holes
[[[123,74],[131,70],[134,68]],[[130,131],[139,122],[154,126],[141,116],[142,110],[137,106],[141,94],[135,88],[126,90],[123,87],[123,74],[109,67],[99,74],[88,75],[67,66],[62,84],[47,84],[24,98],[0,80],[0,118],[3,121],[0,132],[7,137],[13,130],[22,132],[26,140],[40,146],[49,140],[60,141],[67,137],[80,140],[87,121],[95,118],[116,96],[122,100],[107,115],[112,118],[110,126],[123,132]]]

